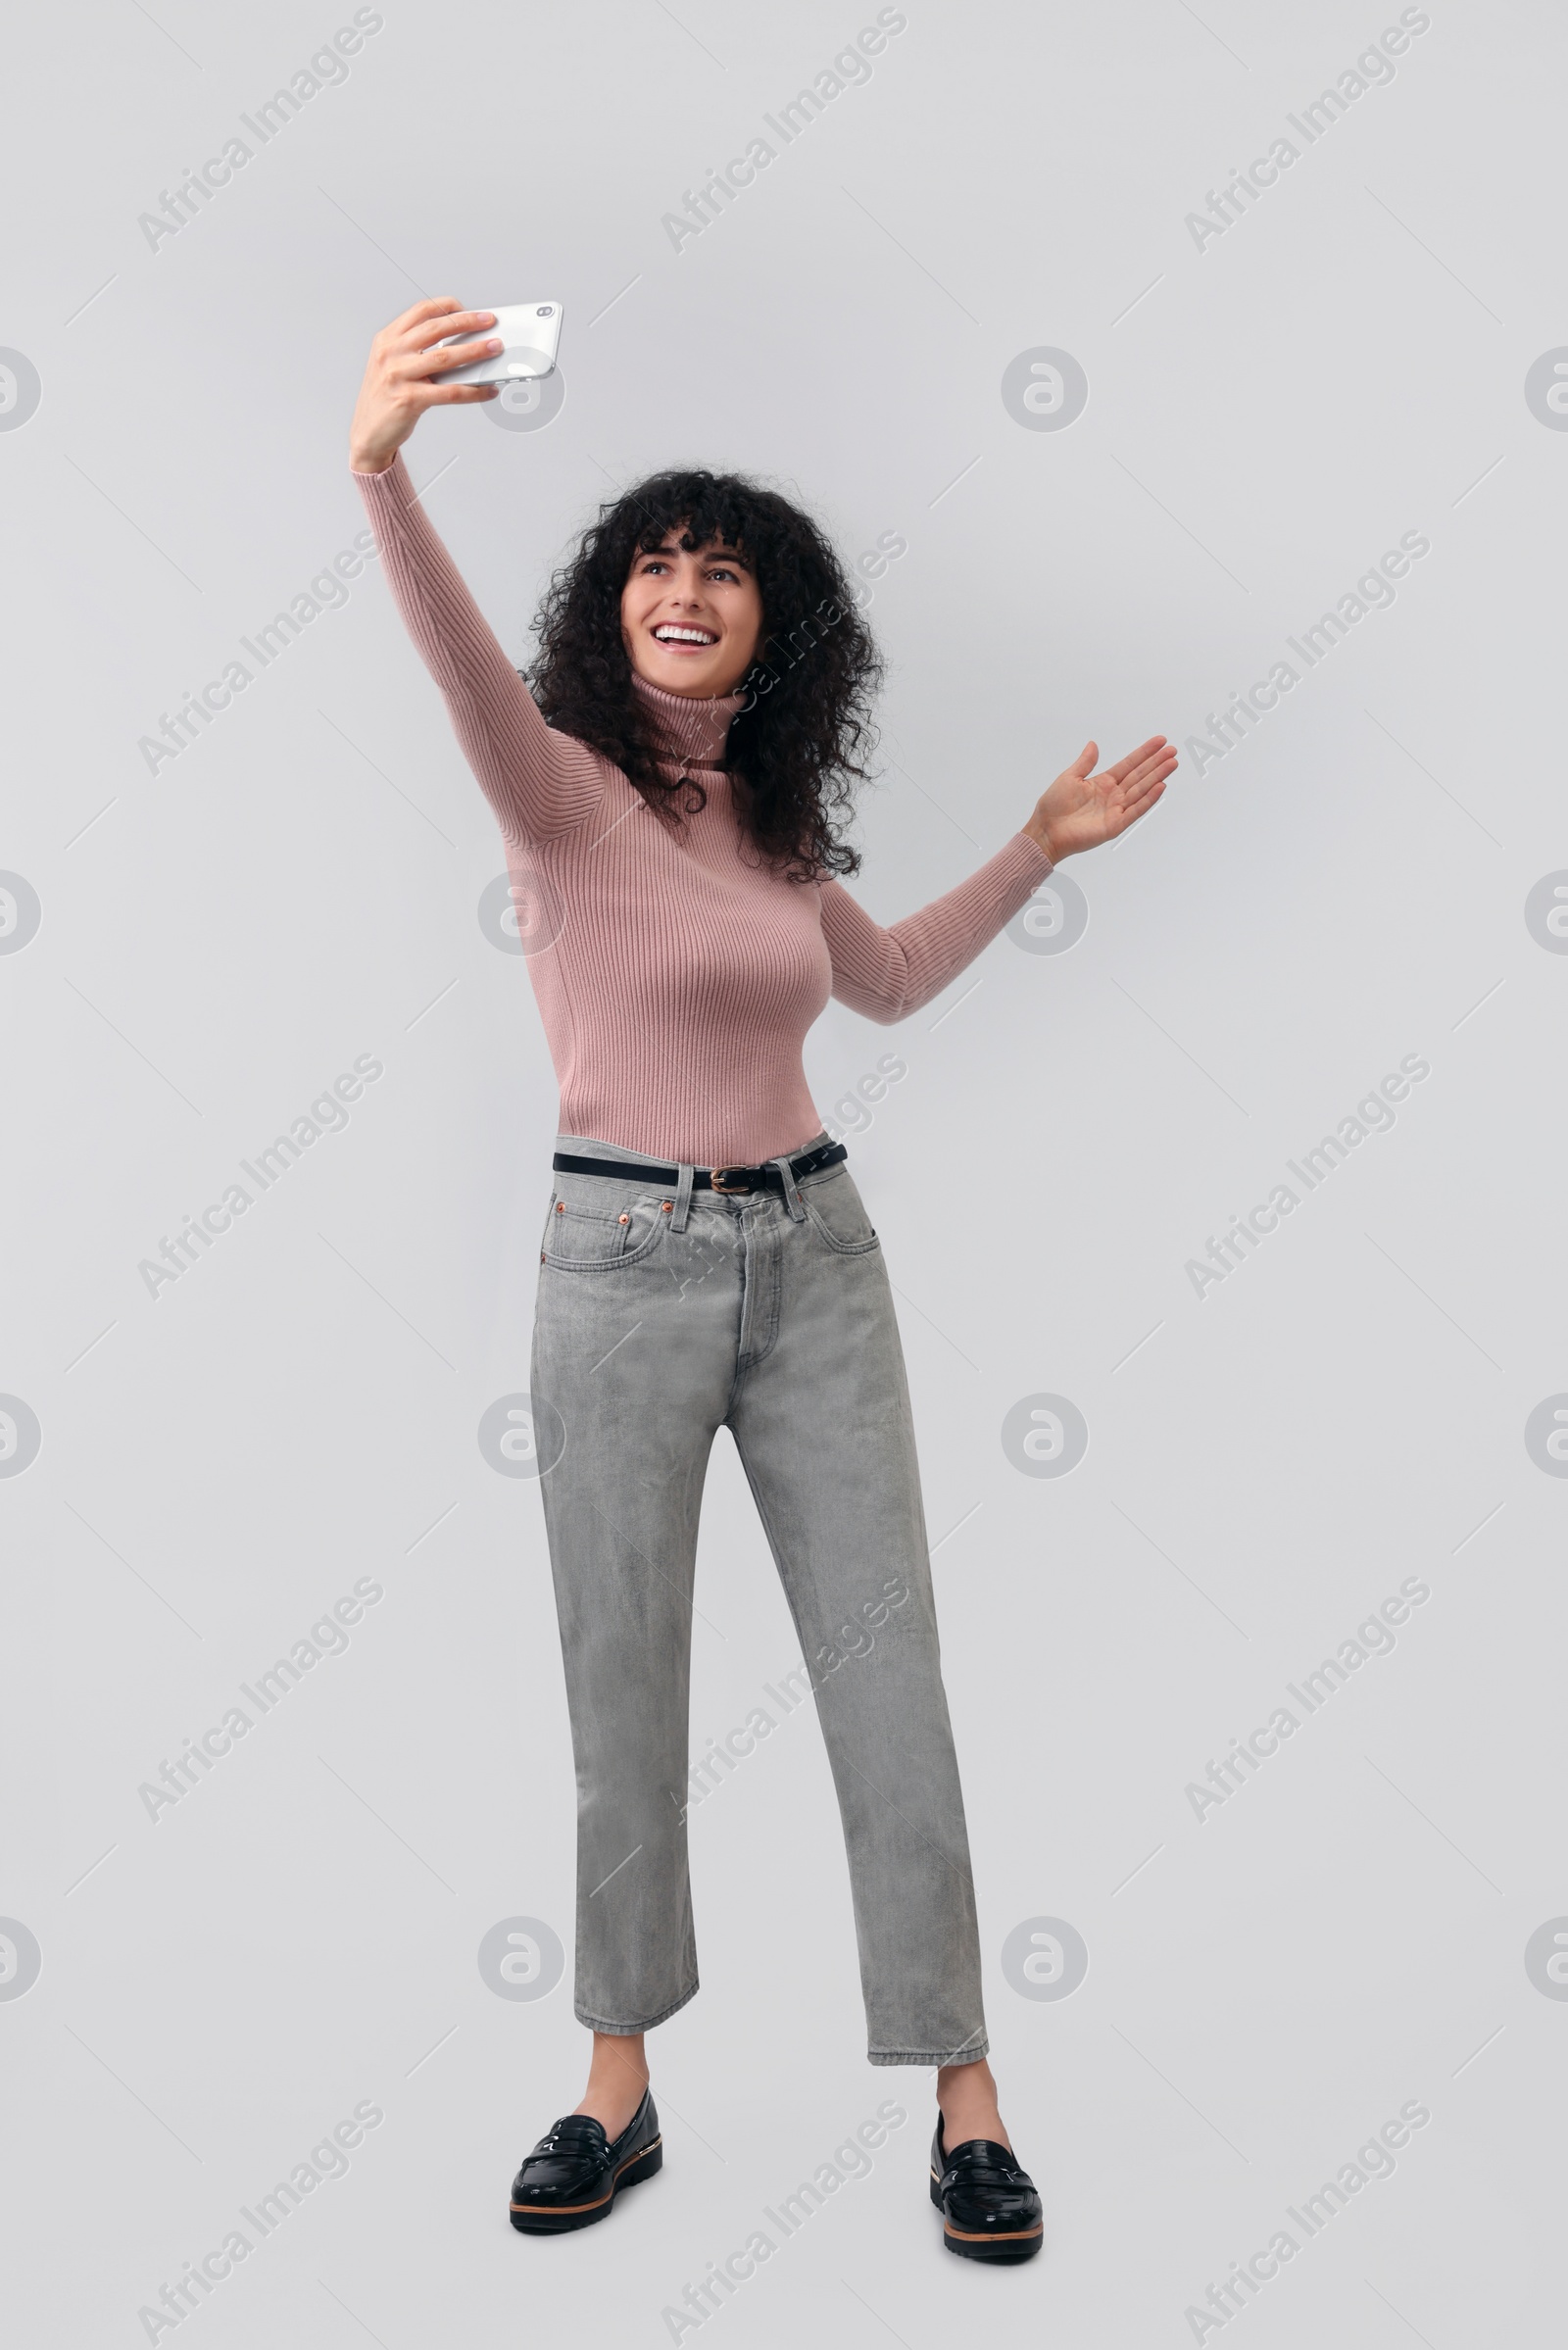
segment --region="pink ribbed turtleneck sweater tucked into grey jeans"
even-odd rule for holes
[[[562,1133],[703,1168],[797,1152],[823,1126],[802,1043],[827,996],[867,1020],[919,1010],[1051,860],[1018,832],[884,931],[839,881],[755,862],[729,776],[708,773],[741,696],[689,700],[635,679],[670,771],[705,768],[708,806],[672,832],[618,766],[545,726],[402,458],[355,479],[397,609],[501,818]]]

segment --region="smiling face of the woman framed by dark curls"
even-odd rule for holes
[[[762,595],[745,557],[717,538],[682,548],[665,531],[637,550],[621,590],[621,637],[632,670],[665,693],[733,693],[762,642]]]

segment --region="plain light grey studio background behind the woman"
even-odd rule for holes
[[[0,2000],[16,2338],[146,2341],[139,2310],[357,2101],[386,2120],[200,2341],[668,2341],[684,2284],[886,2096],[910,2120],[872,2174],[682,2338],[1185,2343],[1406,2101],[1432,2120],[1394,2176],[1293,2230],[1229,2324],[1460,2350],[1561,2308],[1568,2007],[1523,1962],[1568,1911],[1568,1483],[1523,1443],[1568,1389],[1568,959],[1523,914],[1568,867],[1568,437],[1523,395],[1568,343],[1561,19],[1434,0],[1394,80],[1199,249],[1206,190],[1394,7],[905,14],[679,251],[682,190],[875,9],[388,0],[158,249],[139,216],[350,12],[12,28],[0,343],[42,385],[0,430],[0,865],[42,909],[0,956],[0,1389],[42,1429],[0,1478],[0,1911],[42,1953]],[[856,884],[889,921],[1086,736],[1206,733],[1403,531],[1432,540],[1251,740],[1187,752],[1070,867],[1067,954],[1001,938],[900,1029],[832,1006],[809,1043],[898,1283],[994,2066],[1046,2197],[1046,2258],[1006,2277],[938,2249],[929,2077],[865,2066],[809,1708],[693,1814],[663,2178],[569,2242],[505,2225],[585,2042],[569,1976],[510,2000],[477,1965],[510,1918],[567,1965],[571,1934],[538,1492],[475,1434],[527,1384],[555,1130],[527,966],[477,921],[498,837],[374,566],[176,761],[139,754],[362,529],[348,411],[421,291],[567,303],[548,430],[454,414],[411,446],[517,658],[595,501],[654,465],[766,472],[849,559],[907,538],[870,606],[886,780]],[[1060,432],[1001,402],[1041,345],[1088,378]],[[835,1107],[889,1050],[907,1074]],[[348,1128],[148,1297],[160,1236],[355,1055],[386,1074]],[[1429,1076],[1396,1126],[1199,1300],[1187,1260],[1401,1055]],[[1001,1445],[1039,1394],[1088,1429],[1065,1478]],[[139,1786],[357,1577],[383,1598],[348,1650],[148,1819]],[[1187,1784],[1406,1577],[1432,1596],[1394,1652],[1199,1821]],[[698,1582],[693,1753],[797,1654],[729,1445]],[[1088,1950],[1060,2002],[1001,1969],[1037,1918]]]

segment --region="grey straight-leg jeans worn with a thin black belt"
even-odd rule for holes
[[[668,1166],[592,1135],[557,1149]],[[783,1198],[691,1191],[691,1173],[670,1189],[555,1173],[541,1241],[531,1396],[578,1784],[576,2014],[639,2033],[698,1988],[691,1586],[729,1426],[827,1744],[870,2061],[969,2063],[987,2052],[976,1899],[882,1243],[844,1163]]]

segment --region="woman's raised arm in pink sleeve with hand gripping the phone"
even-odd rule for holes
[[[545,726],[463,585],[402,463],[400,446],[428,407],[473,402],[489,385],[430,383],[435,369],[489,355],[489,341],[437,350],[444,334],[494,324],[489,310],[423,301],[371,345],[350,432],[350,463],[409,637],[435,677],[463,757],[515,841],[552,839],[599,804],[592,752]],[[498,343],[494,348],[501,348]]]

